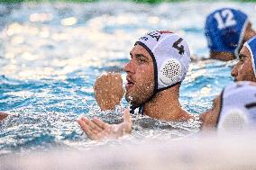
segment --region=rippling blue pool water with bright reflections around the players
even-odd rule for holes
[[[105,145],[87,139],[76,120],[86,114],[117,123],[127,103],[123,99],[115,112],[100,112],[93,94],[96,77],[121,71],[124,80],[122,67],[133,42],[151,30],[176,31],[188,41],[192,56],[207,58],[205,16],[227,4],[256,23],[255,4],[250,3],[20,4],[12,10],[0,4],[0,111],[13,114],[0,124],[0,155]],[[182,106],[194,115],[209,109],[212,99],[233,81],[235,62],[192,63],[181,86]],[[200,127],[197,120],[164,122],[134,116],[133,121],[133,135],[124,141],[177,139]]]

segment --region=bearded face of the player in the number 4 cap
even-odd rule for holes
[[[140,45],[135,45],[130,55],[131,60],[124,67],[127,73],[125,98],[127,102],[138,106],[145,103],[153,94],[153,60],[149,52]]]

